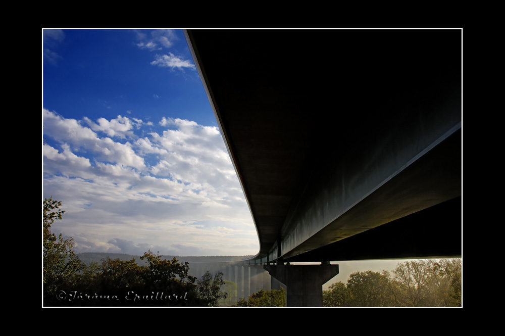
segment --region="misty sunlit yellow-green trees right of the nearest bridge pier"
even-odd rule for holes
[[[461,259],[398,263],[392,272],[355,272],[323,291],[325,307],[460,307]]]

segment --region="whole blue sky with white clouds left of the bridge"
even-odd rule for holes
[[[43,197],[75,251],[251,255],[243,191],[181,30],[43,29]]]

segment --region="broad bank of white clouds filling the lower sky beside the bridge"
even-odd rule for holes
[[[43,153],[44,196],[63,201],[67,212],[55,228],[74,237],[77,252],[151,247],[216,255],[238,241],[257,246],[218,128],[163,118],[157,126],[163,129],[125,142],[146,124],[121,116],[77,121],[48,110],[43,117],[50,143]],[[228,242],[230,232],[239,240]]]

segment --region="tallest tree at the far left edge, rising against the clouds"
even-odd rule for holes
[[[71,287],[78,280],[83,264],[74,253],[74,240],[70,237],[56,236],[51,232],[51,225],[62,219],[62,203],[53,198],[43,202],[43,288],[44,300],[54,298],[58,290]]]

